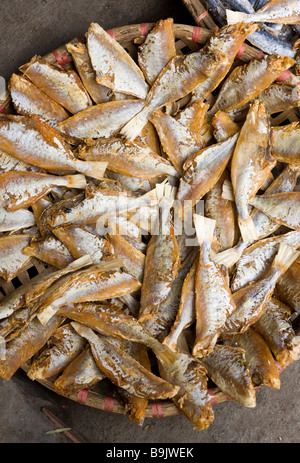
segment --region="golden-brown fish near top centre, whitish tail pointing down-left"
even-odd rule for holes
[[[186,96],[213,75],[220,64],[227,62],[227,57],[218,49],[171,59],[148,92],[143,109],[122,128],[121,135],[134,140],[154,111]]]

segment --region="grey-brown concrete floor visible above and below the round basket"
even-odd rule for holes
[[[0,76],[8,79],[34,54],[45,54],[90,22],[105,29],[173,17],[193,24],[180,0],[1,0]],[[0,379],[0,443],[69,443],[64,434],[45,434],[56,426],[41,412],[52,411],[66,427],[90,443],[299,443],[300,362],[281,374],[281,389],[257,391],[257,406],[234,402],[214,407],[209,429],[197,432],[184,416],[147,419],[142,428],[111,414],[60,397],[19,371]]]

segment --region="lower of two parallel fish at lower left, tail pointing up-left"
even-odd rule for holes
[[[167,399],[176,394],[178,387],[149,372],[133,357],[110,342],[110,338],[96,334],[80,323],[71,324],[88,340],[98,367],[113,384],[141,398]]]

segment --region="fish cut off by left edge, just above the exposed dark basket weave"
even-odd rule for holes
[[[31,235],[8,235],[0,237],[0,276],[11,281],[29,264],[31,257],[23,254]]]

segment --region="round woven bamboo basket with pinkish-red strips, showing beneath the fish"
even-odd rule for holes
[[[201,13],[201,11],[200,11]],[[204,16],[204,18],[207,15]],[[209,18],[206,18],[206,21]],[[117,40],[126,51],[134,58],[137,57],[138,46],[144,41],[148,32],[154,27],[154,23],[142,23],[134,24],[128,26],[117,27],[114,29],[109,29],[107,32]],[[202,46],[207,42],[208,38],[212,34],[212,28],[214,27],[213,23],[205,23],[206,27],[200,26],[190,26],[185,24],[174,24],[174,35],[175,35],[175,45],[176,51],[178,54],[187,54],[202,48]],[[211,29],[209,27],[212,27]],[[81,37],[74,38],[70,43],[84,42],[84,39]],[[236,57],[236,65],[239,62],[247,62],[253,58],[261,57],[262,53],[260,50],[257,50],[248,45],[244,45]],[[49,63],[57,66],[59,69],[71,70],[74,69],[73,61],[71,55],[67,51],[66,45],[63,45],[56,50],[48,53],[43,56],[45,60]],[[282,76],[282,80],[287,80],[294,85],[300,83],[298,77],[294,74],[287,72]],[[211,103],[215,97],[213,95],[208,96],[207,101]],[[186,104],[187,100],[183,99],[179,107],[182,107]],[[0,100],[0,113],[10,113],[12,110],[11,100],[9,94],[5,95],[5,98]],[[272,119],[272,125],[279,125],[282,123],[289,123],[298,121],[299,116],[297,109],[290,111],[282,112],[277,114],[275,118]],[[1,236],[1,233],[0,233]],[[39,261],[36,258],[31,258],[30,262],[27,265],[27,268],[18,275],[17,278],[14,278],[11,282],[7,283],[3,278],[0,278],[0,301],[8,294],[15,291],[20,285],[25,285],[29,281],[37,278],[41,274],[50,273],[55,269],[50,267],[43,262]],[[29,369],[30,362],[22,366],[22,370],[26,373]],[[281,367],[278,364],[278,368],[282,371]],[[38,382],[46,387],[47,389],[57,393],[54,389],[53,383],[55,378],[50,378],[48,380],[38,380]],[[104,380],[105,382],[105,380]],[[226,402],[231,400],[229,396],[220,391],[217,387],[212,385],[208,389],[208,393],[211,397],[212,405],[216,405],[221,402]],[[93,386],[91,389],[84,389],[76,395],[65,396],[70,400],[90,406],[96,409],[104,410],[107,412],[113,412],[117,414],[125,414],[125,407],[113,396],[113,392],[107,390],[107,385],[102,386],[101,382],[96,386]],[[175,416],[181,414],[181,411],[178,407],[174,405],[171,400],[165,400],[162,402],[152,402],[149,401],[146,409],[146,418],[163,418],[167,416]]]

